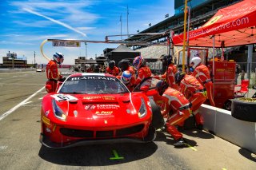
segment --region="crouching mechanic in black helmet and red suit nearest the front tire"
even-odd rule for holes
[[[158,81],[156,88],[164,101],[164,108],[161,108],[162,114],[169,114],[171,110],[173,111],[173,114],[167,118],[166,131],[174,137],[174,147],[186,147],[182,133],[178,132],[175,125],[190,117],[190,101],[178,90],[168,87],[166,81]]]

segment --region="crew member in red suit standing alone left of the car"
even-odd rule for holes
[[[46,65],[46,85],[51,85],[52,89],[48,92],[55,92],[57,89],[58,81],[65,81],[65,78],[58,72],[58,65],[61,65],[64,61],[64,55],[62,53],[54,53],[53,60],[50,60]]]

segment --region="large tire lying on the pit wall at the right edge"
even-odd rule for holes
[[[231,115],[236,119],[256,122],[255,110],[256,99],[242,97],[232,100]]]

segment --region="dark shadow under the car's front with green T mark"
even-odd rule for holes
[[[158,146],[154,142],[146,144],[94,144],[58,149],[42,146],[38,156],[54,164],[104,166],[141,160],[154,154],[157,149]]]

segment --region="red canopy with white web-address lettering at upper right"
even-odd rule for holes
[[[256,1],[244,0],[228,6],[198,30],[190,31],[190,46],[215,47],[256,43]],[[183,34],[174,36],[174,45],[183,45]]]

